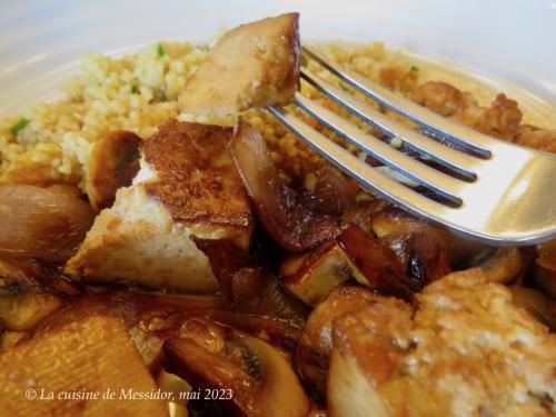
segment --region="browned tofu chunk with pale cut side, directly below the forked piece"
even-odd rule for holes
[[[141,147],[133,185],[95,225],[66,271],[90,282],[126,280],[189,292],[217,289],[191,236],[249,245],[247,193],[227,145],[231,129],[169,120]]]

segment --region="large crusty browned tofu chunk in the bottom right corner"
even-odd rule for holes
[[[448,275],[416,306],[383,298],[332,326],[332,416],[550,415],[556,336],[479,269]]]

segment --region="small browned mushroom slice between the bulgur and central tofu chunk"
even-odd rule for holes
[[[100,138],[92,148],[87,170],[87,195],[95,210],[110,207],[118,188],[131,185],[139,172],[141,138],[117,131]]]

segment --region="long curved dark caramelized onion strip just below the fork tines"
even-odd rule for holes
[[[337,219],[311,210],[280,180],[261,135],[241,118],[234,129],[231,151],[260,221],[280,246],[301,251],[337,232]]]

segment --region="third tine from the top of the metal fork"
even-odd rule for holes
[[[437,171],[436,169],[404,155],[377,138],[365,133],[357,126],[350,123],[334,111],[330,111],[317,102],[307,99],[299,92],[294,96],[291,101],[304,111],[322,122],[325,126],[336,131],[359,149],[371,155],[385,165],[401,171],[405,176],[429,189],[433,189],[435,192],[449,199],[455,205],[461,205],[461,199],[457,197],[457,191],[463,185],[460,180]]]

